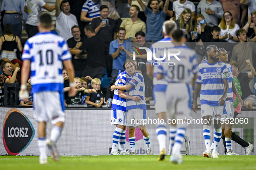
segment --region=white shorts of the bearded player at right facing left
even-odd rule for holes
[[[224,106],[210,106],[207,104],[201,105],[201,115],[204,116],[212,116],[214,119],[219,118],[223,114],[223,107]]]

